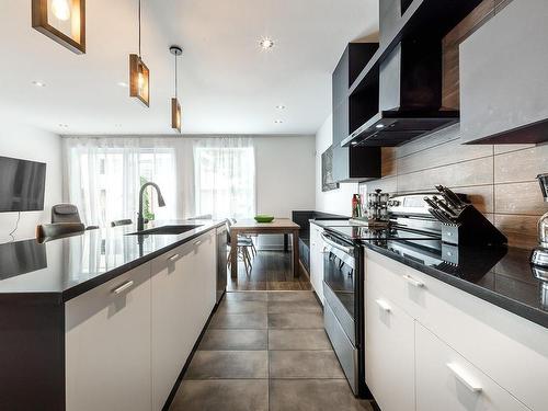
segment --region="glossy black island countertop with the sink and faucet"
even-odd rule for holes
[[[192,224],[182,235],[127,236],[135,226],[84,231],[38,243],[21,240],[0,244],[0,297],[48,297],[67,301],[225,221],[158,221],[146,228]]]

